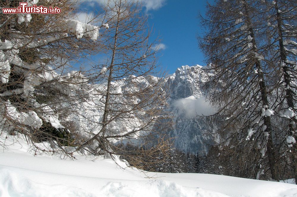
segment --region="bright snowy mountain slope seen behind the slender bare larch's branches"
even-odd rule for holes
[[[154,117],[147,115],[153,104],[149,103],[148,97],[143,97],[143,92],[144,89],[158,92],[158,87],[154,87],[156,83],[158,83],[158,80],[154,76],[147,76],[147,78],[131,76],[126,80],[113,81],[110,88],[111,95],[107,115],[108,120],[113,120],[106,126],[105,134],[123,136],[129,132],[137,131],[132,132],[128,137],[138,137],[140,135],[139,128],[145,130],[150,124],[154,124],[155,121],[152,120]],[[72,113],[69,113],[67,120],[74,122],[77,130],[82,135],[90,138],[102,129],[101,123],[105,109],[107,84],[88,84],[83,91],[83,100],[77,101],[72,106]],[[142,94],[137,94],[138,92],[142,92]],[[152,94],[152,96],[155,95]],[[159,95],[158,97],[161,98]],[[147,100],[143,101],[145,99]],[[155,101],[157,103],[157,99]],[[147,102],[148,104],[143,108],[135,107],[141,102]],[[155,106],[158,107],[158,105]],[[155,113],[155,117],[157,116],[157,113]],[[122,139],[124,138],[118,137],[112,140],[117,142]]]

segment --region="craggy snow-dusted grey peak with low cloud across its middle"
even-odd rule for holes
[[[197,115],[210,115],[213,111],[205,101],[199,83],[206,80],[202,66],[181,66],[166,78],[170,111],[173,113],[173,129],[170,137],[175,137],[175,146],[184,152],[205,154],[206,144],[213,144],[214,139],[208,135],[215,129],[214,123],[207,124],[205,118]]]

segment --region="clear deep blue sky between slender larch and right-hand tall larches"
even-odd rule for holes
[[[182,65],[205,65],[197,40],[203,33],[198,15],[205,13],[205,6],[206,0],[167,0],[159,9],[148,10],[149,24],[165,45],[159,63],[169,73]]]

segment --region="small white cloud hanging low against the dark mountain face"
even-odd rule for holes
[[[198,116],[208,116],[214,113],[214,108],[205,100],[204,97],[199,97],[195,99],[193,96],[188,98],[182,98],[173,101],[173,106],[181,109],[179,113],[182,113],[182,110],[185,110],[185,113],[188,117]]]

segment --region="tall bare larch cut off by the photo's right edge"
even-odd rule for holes
[[[278,74],[275,84],[277,91],[276,112],[282,118],[278,125],[280,131],[279,141],[282,144],[282,160],[291,158],[290,165],[293,169],[295,179],[296,171],[296,58],[297,58],[297,9],[296,1],[268,1],[265,2],[267,18],[267,42],[268,54],[266,60],[274,67]],[[288,147],[288,148],[287,148]],[[286,166],[282,166],[285,168]]]

